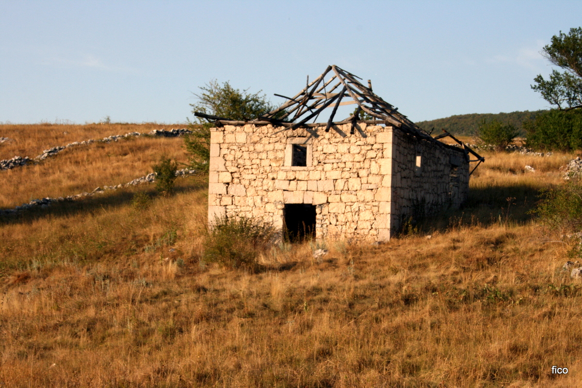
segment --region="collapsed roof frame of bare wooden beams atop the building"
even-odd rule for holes
[[[396,127],[404,133],[420,140],[431,141],[448,147],[451,146],[441,143],[438,139],[450,137],[463,147],[452,148],[463,152],[468,161],[478,161],[479,163],[485,161],[485,158],[478,155],[462,141],[457,140],[454,136],[444,130],[443,134],[437,137],[432,137],[429,133],[411,122],[402,113],[398,112],[398,108],[388,104],[384,99],[374,94],[370,80],[368,80],[368,86],[364,86],[358,80],[361,80],[361,78],[336,65],[331,65],[328,66],[327,69],[325,69],[325,72],[315,80],[309,82],[309,77],[307,77],[306,87],[293,97],[275,94],[278,97],[286,98],[288,101],[271,112],[259,116],[257,119],[239,121],[207,115],[200,112],[195,112],[194,115],[214,121],[217,125],[272,124],[274,126],[284,127],[285,130],[295,130],[300,127],[310,128],[325,126],[325,131],[327,132],[336,125],[352,124],[350,131],[352,134],[354,133],[354,127],[356,127],[357,123],[374,125],[385,124]],[[357,104],[355,112],[345,119],[334,121],[338,107],[350,104]],[[316,122],[320,114],[327,108],[333,108],[327,122]],[[368,116],[368,118],[371,117],[372,119],[363,119],[365,116]],[[308,123],[312,119],[313,123]],[[470,160],[469,154],[472,154],[477,159]],[[477,168],[477,166],[475,166],[475,168]]]

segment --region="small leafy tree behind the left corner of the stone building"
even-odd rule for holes
[[[228,81],[221,86],[217,80],[211,80],[205,86],[201,86],[200,90],[202,91],[200,94],[194,94],[198,102],[190,104],[192,113],[201,112],[232,120],[248,121],[275,109],[265,95],[260,95],[261,91],[254,94],[247,93],[248,89],[240,91],[230,86]],[[285,111],[282,111],[278,116],[284,113]],[[189,120],[192,133],[184,136],[184,148],[190,155],[189,166],[201,173],[208,172],[211,126],[211,123],[205,122],[202,118],[198,118],[198,124]]]

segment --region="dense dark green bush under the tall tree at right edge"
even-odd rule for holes
[[[582,148],[582,110],[542,113],[523,124],[527,131],[527,147],[570,151]]]

